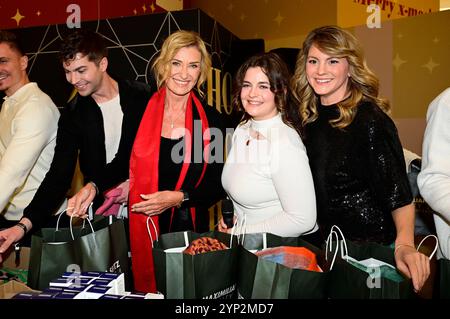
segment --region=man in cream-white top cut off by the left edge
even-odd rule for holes
[[[27,76],[16,36],[0,31],[0,229],[17,226],[53,159],[59,111]],[[0,238],[1,241],[1,238]]]

